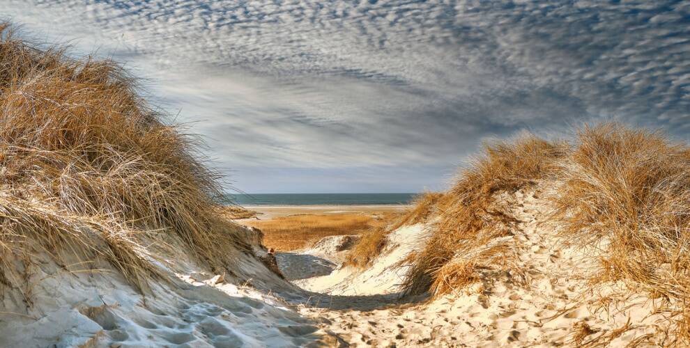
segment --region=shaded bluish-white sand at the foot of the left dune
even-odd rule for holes
[[[254,287],[210,274],[181,254],[160,265],[171,280],[152,280],[147,296],[106,262],[98,271],[70,273],[43,256],[31,288],[3,289],[0,347],[296,347],[323,341],[310,319],[254,288],[295,290],[249,255],[235,270],[252,274]]]

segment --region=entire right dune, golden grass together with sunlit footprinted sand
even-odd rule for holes
[[[687,346],[688,180],[686,144],[619,124],[489,144],[354,261],[299,281],[427,303],[302,313],[370,345]]]

